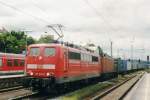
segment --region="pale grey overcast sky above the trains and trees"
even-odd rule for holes
[[[150,0],[0,0],[0,7],[0,26],[32,30],[34,38],[49,31],[46,25],[62,24],[65,41],[90,41],[107,53],[113,41],[114,56],[124,58],[131,44],[134,58],[150,54]]]

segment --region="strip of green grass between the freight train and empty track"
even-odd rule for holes
[[[62,100],[83,100],[84,98],[89,97],[90,95],[94,95],[94,93],[97,93],[98,91],[103,91],[104,89],[107,89],[116,83],[120,83],[123,80],[126,80],[130,76],[132,76],[132,74],[119,75],[118,78],[112,79],[108,82],[101,82],[101,83],[91,85],[83,89],[71,92],[61,97],[61,99]]]

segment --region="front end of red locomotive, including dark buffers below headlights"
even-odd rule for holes
[[[55,83],[58,50],[54,45],[35,44],[28,48],[25,86],[46,87]]]

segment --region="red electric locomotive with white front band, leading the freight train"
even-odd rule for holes
[[[28,47],[25,85],[49,87],[99,77],[99,54],[62,44],[33,44]]]

